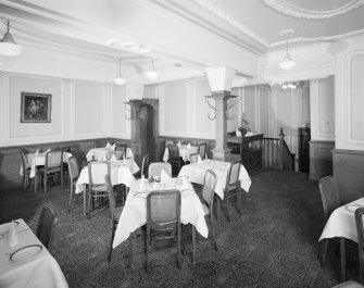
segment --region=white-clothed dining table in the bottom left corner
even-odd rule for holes
[[[68,287],[60,265],[24,220],[13,221],[17,243],[10,245],[11,225],[0,225],[0,287]]]

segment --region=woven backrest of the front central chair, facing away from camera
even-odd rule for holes
[[[167,226],[180,223],[180,191],[159,190],[147,196],[147,225]]]

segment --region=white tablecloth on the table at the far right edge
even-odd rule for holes
[[[357,242],[355,210],[360,206],[364,206],[364,198],[336,209],[328,218],[318,241],[325,238],[344,237]]]

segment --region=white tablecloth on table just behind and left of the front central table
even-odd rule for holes
[[[110,162],[111,165],[111,183],[112,185],[124,184],[127,187],[130,187],[135,183],[135,177],[133,174],[137,173],[140,168],[138,164],[130,159],[118,160],[115,162]],[[100,183],[104,183],[104,173],[102,173],[102,179]],[[93,177],[92,177],[93,178]],[[85,190],[85,184],[88,184],[88,167],[84,167],[79,174],[75,193],[80,193]]]

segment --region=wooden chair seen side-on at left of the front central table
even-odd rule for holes
[[[105,175],[105,185],[106,185],[106,188],[108,188],[110,212],[111,212],[111,220],[110,220],[111,238],[110,238],[110,246],[109,246],[109,252],[108,252],[108,261],[111,262],[111,255],[112,255],[112,252],[113,252],[113,241],[114,241],[115,230],[116,230],[118,218],[122,215],[124,206],[116,208],[114,190],[113,190],[113,186],[111,185],[111,180],[110,180],[109,175]],[[131,237],[131,235],[130,235],[130,237]]]

